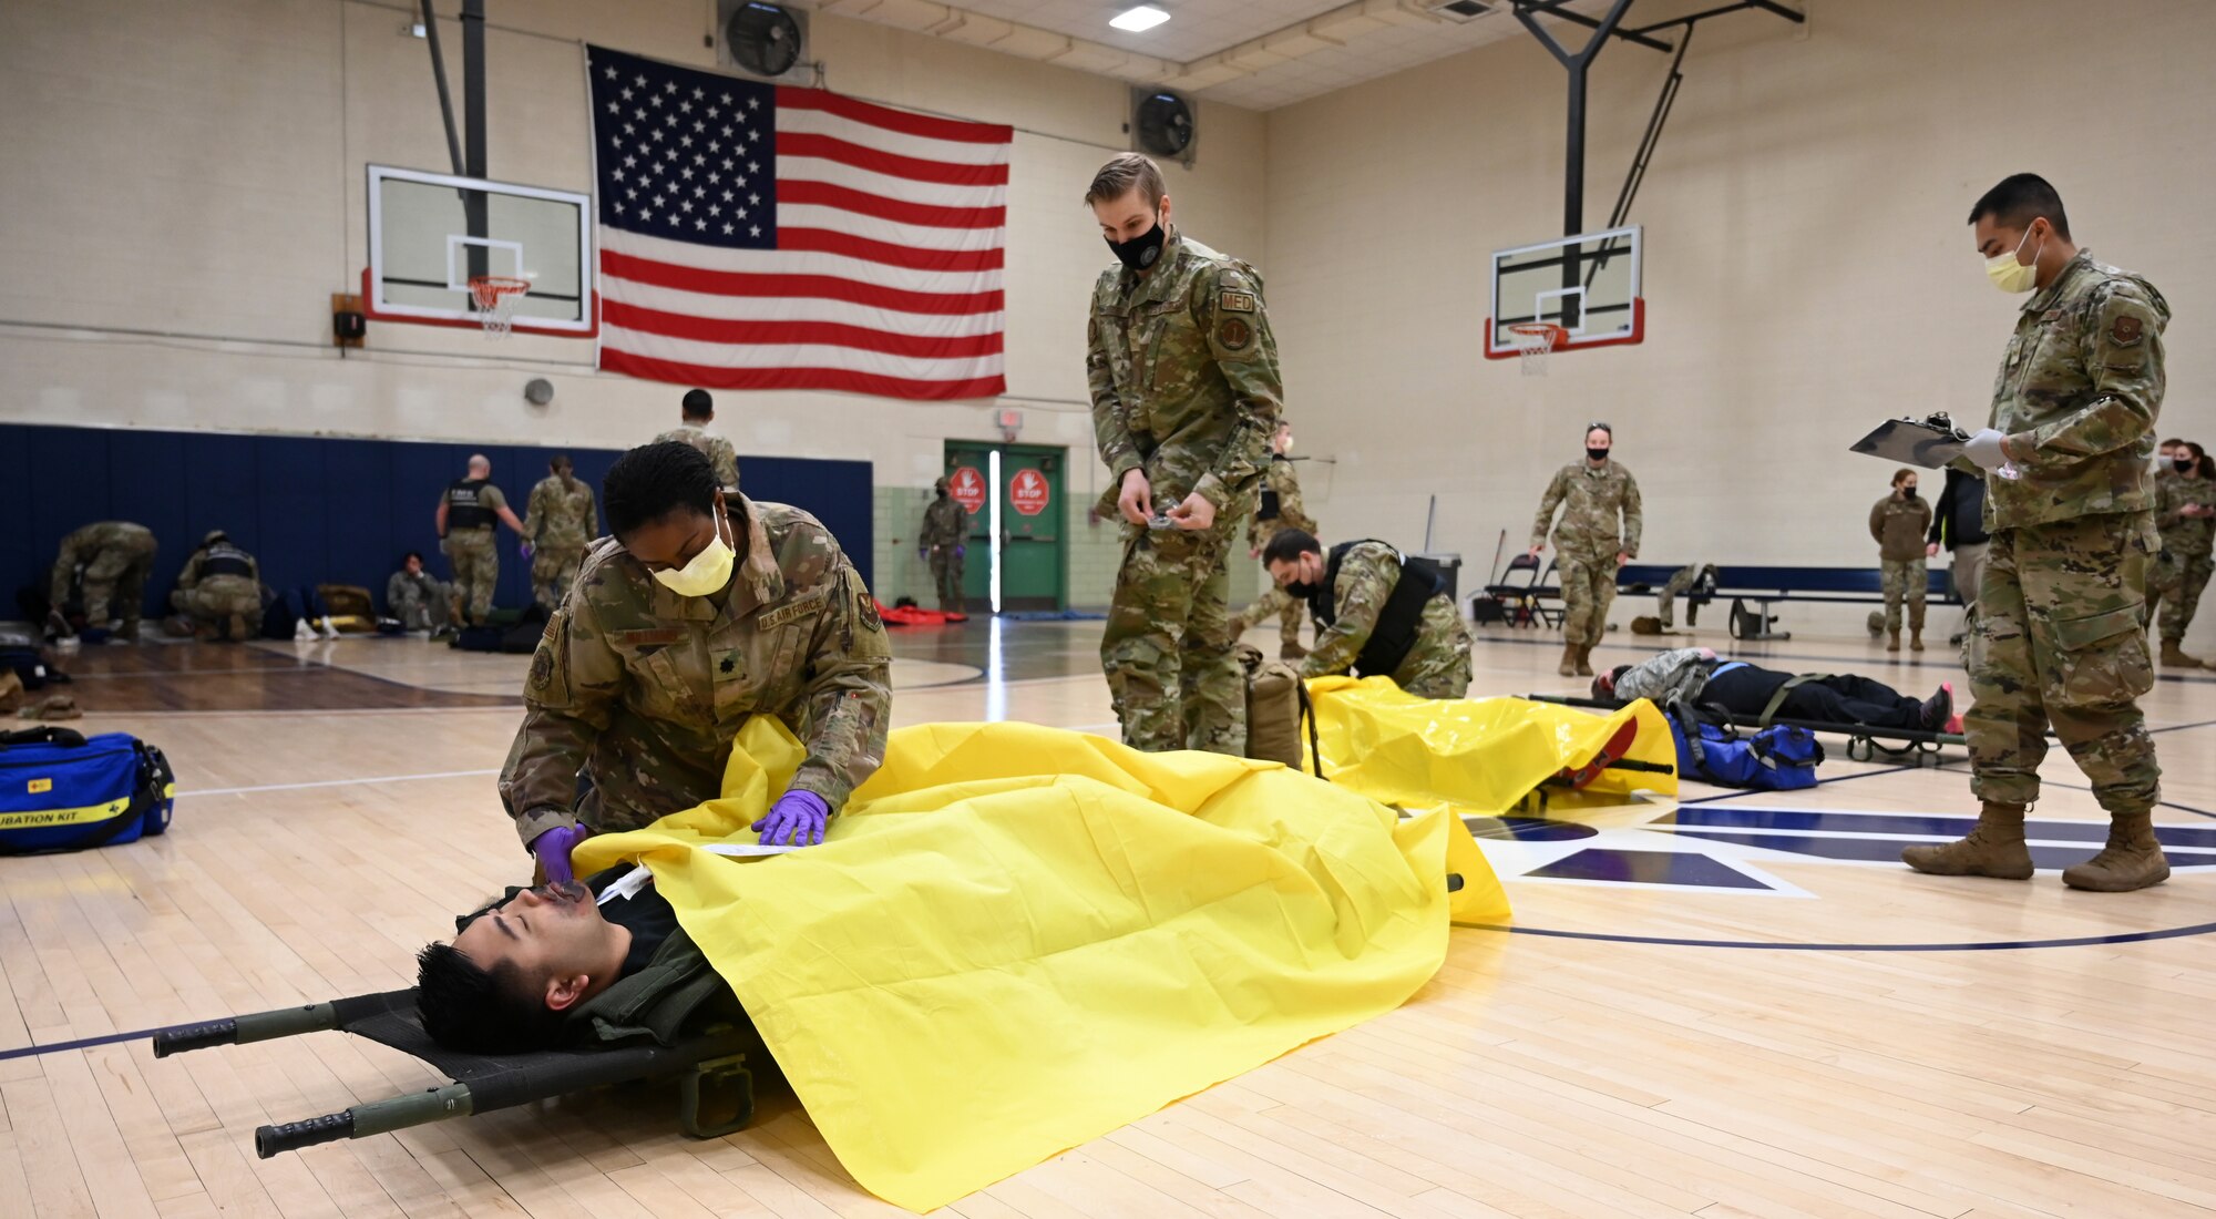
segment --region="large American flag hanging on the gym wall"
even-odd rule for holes
[[[585,49],[601,368],[897,399],[1006,390],[1013,129]]]

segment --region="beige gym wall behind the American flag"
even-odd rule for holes
[[[490,175],[589,191],[581,42],[711,66],[702,0],[492,0]],[[441,13],[456,4],[441,2]],[[601,377],[589,344],[370,324],[330,348],[328,297],[368,259],[363,162],[448,168],[412,4],[20,0],[0,4],[0,417],[115,428],[629,445],[680,386]],[[450,78],[459,22],[441,22]],[[815,16],[835,91],[1019,129],[1008,188],[1008,399],[1026,443],[1070,445],[1073,601],[1106,603],[1115,527],[1086,412],[1084,317],[1112,259],[1079,204],[1128,146],[1128,86],[889,27]],[[1179,215],[1263,262],[1263,117],[1201,104],[1206,157],[1170,166]],[[532,408],[523,381],[550,377]],[[722,392],[740,452],[875,463],[878,585],[924,594],[913,512],[946,439],[995,403]],[[507,472],[512,490],[536,472]],[[1243,572],[1245,587],[1252,574]]]

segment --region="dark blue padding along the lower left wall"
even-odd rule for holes
[[[421,550],[439,554],[432,512],[472,452],[492,459],[492,483],[516,516],[547,459],[567,452],[598,494],[616,450],[348,441],[326,437],[226,437],[0,423],[0,618],[16,590],[44,587],[62,536],[89,521],[137,521],[162,552],[146,585],[146,616],[168,612],[177,572],[208,530],[226,530],[261,561],[270,587],[361,585],[383,605],[386,576]],[[740,457],[747,496],[813,512],[871,578],[871,465],[802,457]],[[607,527],[603,519],[601,530]],[[501,527],[494,605],[532,598],[530,563]]]

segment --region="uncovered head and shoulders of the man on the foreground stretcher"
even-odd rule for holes
[[[417,1011],[465,1053],[678,1037],[745,1020],[731,988],[645,884],[596,904],[632,864],[585,880],[510,889],[454,920],[452,944],[417,953]]]

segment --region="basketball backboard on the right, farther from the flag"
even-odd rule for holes
[[[1646,299],[1640,297],[1640,226],[1494,250],[1485,357],[1518,355],[1509,328],[1533,321],[1562,328],[1556,355],[1642,341]]]

